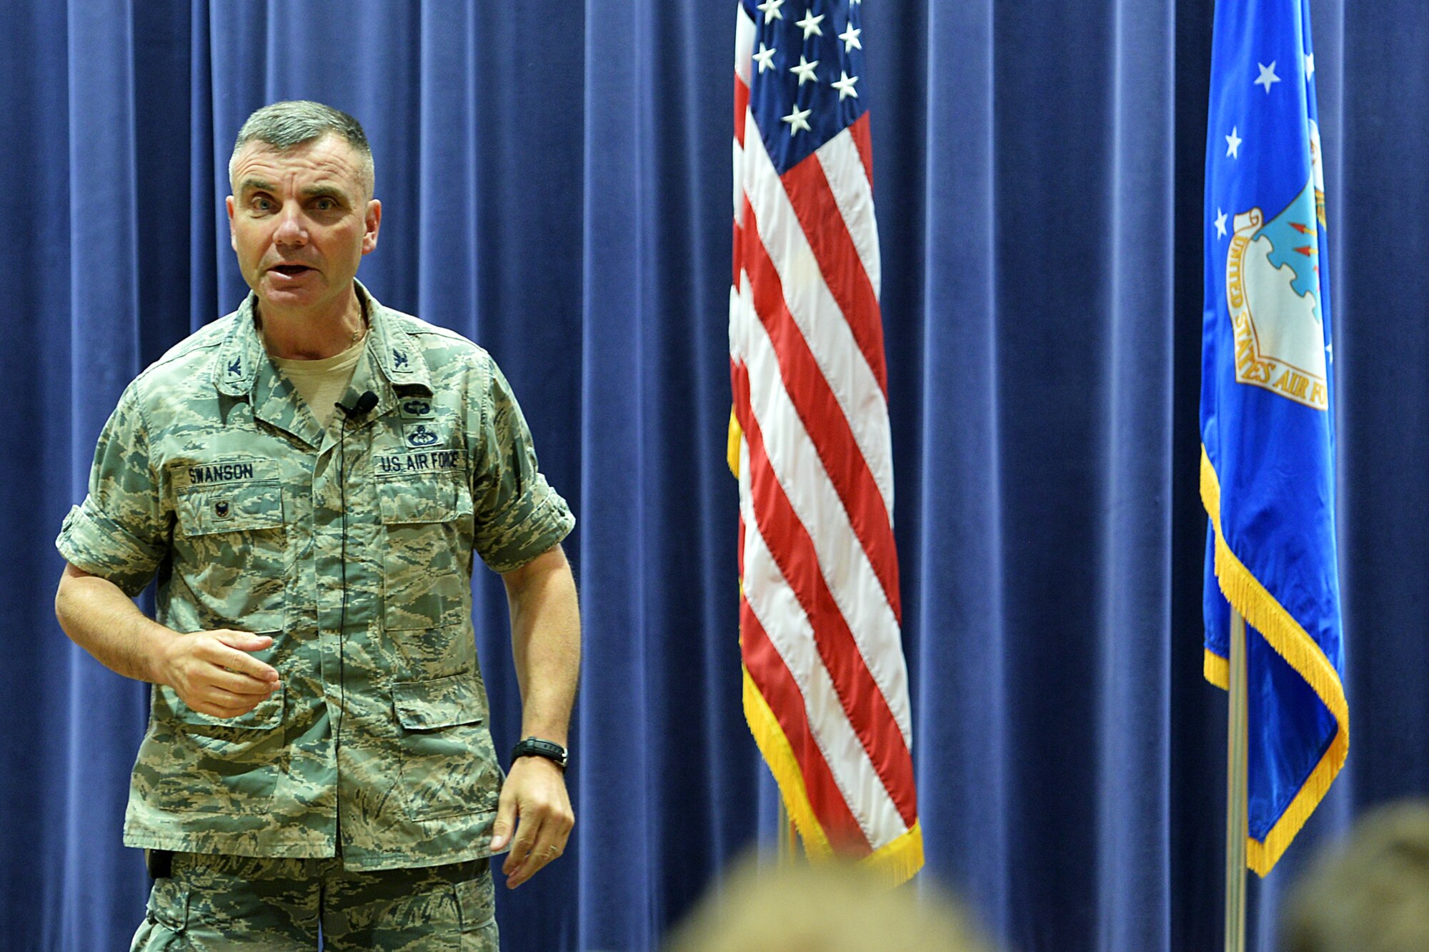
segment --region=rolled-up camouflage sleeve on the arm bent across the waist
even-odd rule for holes
[[[66,562],[139,595],[167,552],[169,525],[149,455],[137,382],[114,407],[94,449],[89,495],[54,540]]]

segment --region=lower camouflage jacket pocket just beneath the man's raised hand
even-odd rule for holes
[[[169,708],[170,716],[161,728],[169,736],[156,736],[153,745],[146,738],[134,769],[146,768],[150,750],[164,759],[164,763],[147,765],[154,768],[159,805],[199,813],[272,809],[286,756],[283,685],[237,718],[193,710],[170,688],[154,693],[156,706]]]

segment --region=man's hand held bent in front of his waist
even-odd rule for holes
[[[164,645],[161,682],[199,713],[237,718],[277,688],[277,670],[249,653],[270,645],[269,635],[230,629],[177,635]]]

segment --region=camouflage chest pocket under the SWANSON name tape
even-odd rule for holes
[[[177,497],[174,575],[214,626],[283,629],[289,575],[283,486],[276,479],[191,487]]]

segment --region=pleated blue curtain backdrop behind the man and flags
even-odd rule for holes
[[[1429,793],[1429,7],[1313,3],[1336,273],[1353,738],[1286,885]],[[725,470],[735,4],[11,3],[0,13],[0,946],[117,949],[144,688],[54,623],[51,546],[124,383],[243,294],[224,163],[312,97],[367,126],[362,276],[522,397],[586,622],[566,858],[512,949],[647,949],[770,786],[739,709]],[[1219,946],[1225,699],[1196,495],[1210,0],[865,7],[905,635],[929,872],[1009,945]],[[477,589],[499,748],[517,699]]]

